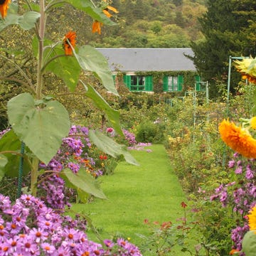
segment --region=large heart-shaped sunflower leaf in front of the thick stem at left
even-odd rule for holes
[[[48,164],[70,129],[65,107],[57,101],[46,102],[45,107],[36,107],[34,98],[22,93],[9,100],[7,113],[19,139],[38,159]]]

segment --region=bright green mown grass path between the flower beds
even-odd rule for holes
[[[73,210],[90,215],[102,238],[119,234],[138,245],[141,241],[135,234],[149,234],[145,219],[176,222],[183,216],[181,202],[186,202],[186,198],[164,146],[146,149],[152,152],[131,151],[140,166],[121,162],[114,175],[100,178],[107,200],[95,199],[89,204],[73,206]],[[95,240],[90,232],[87,235]]]

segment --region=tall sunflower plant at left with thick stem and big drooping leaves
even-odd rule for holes
[[[39,161],[48,164],[60,148],[62,139],[66,137],[70,131],[69,113],[65,107],[53,97],[58,90],[55,90],[53,95],[43,95],[43,92],[48,89],[46,73],[51,73],[51,76],[48,75],[50,81],[54,78],[53,74],[63,79],[70,92],[75,92],[79,78],[87,78],[88,85],[82,87],[80,93],[95,102],[95,105],[100,111],[106,112],[110,123],[113,124],[114,129],[116,129],[119,134],[122,134],[122,129],[119,127],[118,112],[112,110],[100,94],[92,88],[92,81],[95,80],[91,78],[97,78],[108,92],[118,95],[114,87],[112,73],[103,55],[91,46],[75,46],[75,42],[71,42],[70,38],[67,38],[70,33],[66,34],[64,44],[68,44],[68,46],[65,47],[72,48],[73,55],[70,55],[71,53],[69,52],[65,52],[63,39],[53,43],[53,40],[46,37],[46,15],[48,16],[51,11],[55,11],[56,8],[58,9],[65,6],[65,4],[73,5],[76,9],[84,11],[85,14],[101,23],[114,25],[114,22],[103,13],[102,6],[97,7],[89,0],[65,0],[61,3],[58,1],[48,2],[41,0],[38,4],[30,5],[28,2],[26,4],[27,5],[24,6],[25,12],[23,15],[16,14],[17,11],[24,11],[23,9],[18,10],[20,6],[11,4],[6,18],[0,20],[1,30],[6,26],[16,24],[26,31],[35,28],[33,30],[35,36],[31,36],[30,38],[30,42],[33,42],[33,50],[31,48],[29,49],[36,56],[37,64],[34,65],[35,63],[33,63],[30,69],[24,68],[23,70],[23,67],[20,66],[23,64],[22,60],[18,61],[12,50],[1,49],[5,53],[5,55],[1,55],[1,57],[6,60],[6,63],[16,68],[16,72],[11,75],[18,73],[18,75],[21,76],[21,78],[12,78],[10,75],[11,78],[6,77],[2,79],[18,82],[31,93],[21,93],[16,97],[12,97],[8,102],[7,112],[12,129],[11,132],[8,132],[0,141],[0,167],[1,176],[4,174],[16,176],[16,171],[13,171],[13,169],[17,170],[18,168],[14,166],[14,164],[16,164],[18,160],[17,156],[20,156],[18,153],[20,144],[24,142],[27,148],[23,157],[26,159],[28,169],[31,171],[31,191],[33,195],[36,196]],[[27,9],[29,9],[29,11],[26,12]],[[75,39],[73,41],[75,41]],[[83,83],[83,85],[85,85],[85,83]],[[92,140],[93,139],[100,145],[102,151],[105,149],[110,151],[109,145],[114,143],[110,138],[107,138],[109,140],[106,144],[105,138],[101,137],[100,134],[96,132],[94,136],[92,136]],[[101,139],[102,142],[100,141]],[[124,150],[123,146],[118,144],[113,145],[114,150],[112,153],[114,152],[115,157],[122,154],[127,161],[132,164],[137,164],[129,152]],[[6,146],[11,146],[11,151],[6,149]],[[9,156],[10,154],[14,154],[16,158],[15,161],[7,163],[7,159],[12,160],[12,156]],[[26,167],[27,166],[24,168],[25,171]],[[100,198],[105,197],[94,182],[94,179],[88,178],[85,174],[80,174],[81,181],[78,181],[78,175],[68,173],[67,170],[63,171],[60,175],[63,175],[68,186],[78,191],[78,196],[82,201],[85,201],[88,193],[92,193],[94,196],[99,196]]]

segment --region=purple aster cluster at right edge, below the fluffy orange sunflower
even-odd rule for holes
[[[255,159],[240,159],[234,154],[228,167],[234,169],[235,181],[221,184],[215,189],[210,200],[219,200],[223,207],[231,206],[240,216],[237,226],[231,231],[231,238],[235,248],[242,249],[242,238],[249,230],[246,215],[256,204],[256,161]]]

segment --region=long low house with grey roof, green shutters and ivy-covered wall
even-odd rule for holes
[[[201,90],[200,76],[193,61],[191,48],[97,48],[107,58],[113,75],[122,72],[123,82],[130,91],[181,92],[186,86]],[[186,76],[190,74],[190,82]],[[191,74],[193,80],[191,80]]]

